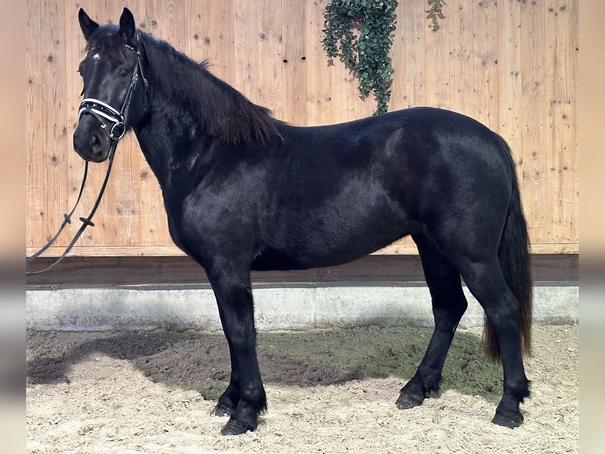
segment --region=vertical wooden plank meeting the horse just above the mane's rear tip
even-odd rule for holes
[[[258,102],[283,119],[281,0],[258,0]]]

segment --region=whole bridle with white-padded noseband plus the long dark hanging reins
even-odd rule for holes
[[[138,42],[139,42],[139,36],[137,35],[137,43]],[[89,225],[94,227],[94,223],[92,222],[91,219],[93,218],[94,212],[96,212],[97,208],[99,207],[99,202],[101,201],[101,197],[103,197],[103,192],[105,192],[105,186],[107,185],[107,181],[110,177],[111,166],[113,164],[113,158],[114,158],[114,155],[116,154],[117,143],[119,142],[120,139],[122,139],[122,136],[126,133],[126,125],[125,125],[126,116],[128,115],[128,108],[130,107],[132,93],[134,93],[134,89],[136,88],[137,81],[139,80],[139,73],[141,75],[141,80],[143,81],[143,86],[145,87],[145,89],[148,86],[147,79],[145,79],[145,76],[143,75],[143,68],[141,67],[140,50],[138,48],[134,48],[128,44],[125,44],[125,46],[137,54],[137,63],[134,65],[134,71],[132,72],[132,79],[130,81],[130,86],[128,87],[128,91],[126,92],[126,97],[122,104],[122,109],[120,111],[117,111],[115,108],[111,107],[109,104],[106,104],[105,102],[100,101],[99,99],[94,99],[94,98],[84,99],[80,103],[79,119],[81,119],[82,115],[84,115],[84,114],[91,114],[93,117],[95,117],[97,120],[99,120],[101,128],[103,128],[103,130],[105,130],[105,131],[107,131],[107,122],[105,120],[113,123],[113,125],[111,126],[111,129],[108,132],[108,134],[110,136],[110,140],[111,140],[110,153],[109,153],[109,165],[107,166],[107,173],[105,174],[105,179],[103,180],[103,185],[101,186],[99,196],[97,197],[97,200],[94,203],[93,209],[91,210],[90,214],[88,214],[88,217],[80,217],[80,222],[82,222],[82,226],[80,226],[76,235],[73,237],[73,239],[71,240],[70,244],[67,246],[67,248],[65,249],[63,254],[59,258],[57,258],[57,260],[55,260],[53,263],[51,263],[50,266],[47,266],[47,268],[41,269],[39,271],[28,271],[28,272],[25,272],[26,275],[38,274],[38,273],[41,273],[41,272],[47,271],[48,269],[53,268],[54,265],[57,265],[57,263],[59,263],[62,260],[62,258],[64,258],[65,255],[67,255],[67,253],[71,250],[73,245],[76,244],[76,241],[79,239],[80,235],[82,235],[84,230]],[[71,224],[71,215],[76,210],[76,206],[80,202],[80,197],[82,197],[82,191],[84,189],[84,184],[86,183],[87,174],[88,174],[88,161],[86,161],[86,163],[84,165],[84,176],[82,177],[82,185],[80,185],[80,192],[79,192],[77,200],[76,200],[76,205],[74,205],[73,209],[71,209],[69,214],[64,214],[64,220],[59,228],[59,231],[57,231],[57,233],[48,241],[48,243],[46,243],[46,245],[44,247],[42,247],[42,249],[40,249],[38,252],[31,255],[31,257],[27,258],[27,261],[26,261],[27,264],[36,260],[36,258],[38,258],[42,254],[42,252],[46,251],[46,249],[48,249],[54,243],[54,240],[56,240],[57,237],[59,237],[59,234],[64,229],[64,227],[67,224]]]

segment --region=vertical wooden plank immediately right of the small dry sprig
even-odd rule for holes
[[[473,116],[473,0],[448,4],[450,109]]]

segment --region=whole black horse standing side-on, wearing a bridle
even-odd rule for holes
[[[214,410],[231,415],[224,435],[255,429],[267,407],[250,269],[338,265],[405,235],[420,252],[435,329],[397,407],[439,392],[466,309],[462,276],[485,310],[488,355],[502,358],[493,422],[522,423],[532,282],[515,165],[502,137],[427,107],[294,127],[212,76],[206,63],[136,30],[126,8],[119,26],[100,27],[81,9],[79,22],[87,100],[74,149],[101,162],[116,140],[111,130],[136,134],[162,187],[172,239],[203,266],[217,298],[231,353],[231,381]]]

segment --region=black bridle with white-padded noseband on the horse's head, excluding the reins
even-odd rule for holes
[[[139,40],[139,36],[137,35],[137,42]],[[137,63],[134,65],[134,71],[132,71],[132,79],[130,81],[130,86],[128,87],[128,91],[126,92],[126,97],[122,104],[122,109],[120,111],[111,107],[109,104],[105,102],[94,99],[92,97],[87,97],[83,99],[80,103],[79,108],[79,119],[82,119],[84,114],[91,114],[101,125],[103,130],[106,130],[107,123],[105,120],[113,123],[111,126],[111,130],[109,130],[109,136],[112,141],[117,141],[122,139],[124,133],[126,133],[126,125],[124,124],[126,120],[126,116],[128,115],[128,108],[130,107],[130,101],[132,99],[132,93],[134,93],[134,88],[137,86],[137,81],[139,80],[139,73],[141,74],[141,79],[143,81],[143,85],[147,88],[148,82],[143,75],[143,69],[141,67],[141,51],[138,48],[134,48],[131,45],[124,44],[126,47],[131,49],[134,53],[137,54]],[[92,49],[91,49],[92,50]]]

